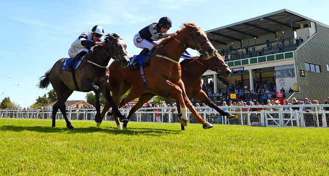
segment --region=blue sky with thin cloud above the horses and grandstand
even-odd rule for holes
[[[141,49],[134,46],[134,35],[160,17],[171,18],[173,27],[193,22],[204,30],[228,25],[287,8],[329,24],[326,0],[12,0],[3,1],[0,11],[0,101],[28,107],[52,89],[39,89],[39,77],[54,63],[68,57],[71,43],[85,30],[102,25],[105,33],[119,34],[129,55]],[[189,50],[193,55],[196,52]],[[85,99],[85,92],[74,92],[69,100]]]

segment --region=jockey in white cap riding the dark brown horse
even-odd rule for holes
[[[73,63],[80,57],[93,50],[94,46],[103,46],[105,42],[101,40],[104,35],[104,29],[100,25],[95,25],[92,30],[84,31],[80,36],[71,44],[69,49],[69,56],[74,57],[67,65],[65,70],[72,71]]]

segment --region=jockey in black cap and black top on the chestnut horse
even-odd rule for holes
[[[149,24],[136,33],[133,39],[134,44],[143,49],[139,55],[145,55],[152,50],[156,44],[154,41],[168,36],[176,36],[176,32],[167,33],[170,27],[171,20],[165,16],[160,18],[159,22]]]

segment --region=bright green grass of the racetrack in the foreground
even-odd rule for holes
[[[328,175],[327,128],[0,118],[1,175]]]

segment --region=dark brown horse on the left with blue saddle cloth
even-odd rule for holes
[[[48,87],[49,83],[52,83],[53,88],[57,94],[58,101],[53,106],[53,127],[55,126],[56,113],[58,109],[62,111],[62,114],[66,121],[66,126],[73,129],[71,122],[66,115],[65,102],[68,97],[76,91],[89,92],[94,91],[96,94],[96,110],[95,121],[101,122],[99,93],[103,92],[106,100],[111,104],[112,107],[116,107],[112,96],[110,94],[110,85],[107,81],[109,78],[106,66],[108,65],[111,58],[115,58],[119,67],[126,67],[129,63],[129,58],[126,52],[126,43],[117,34],[106,35],[105,45],[100,46],[89,52],[84,57],[83,61],[86,61],[76,69],[74,73],[66,71],[61,66],[65,58],[59,59],[51,70],[47,71],[44,76],[40,78],[38,86],[40,88]],[[120,66],[121,65],[121,66]],[[73,80],[73,74],[76,77],[76,85]],[[121,121],[128,121],[123,116],[118,108],[114,108],[114,113],[120,117]]]

